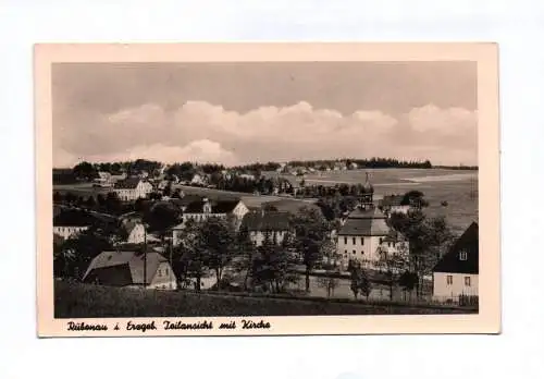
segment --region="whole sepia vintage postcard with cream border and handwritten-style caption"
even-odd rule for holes
[[[38,335],[498,333],[497,57],[37,45]]]

